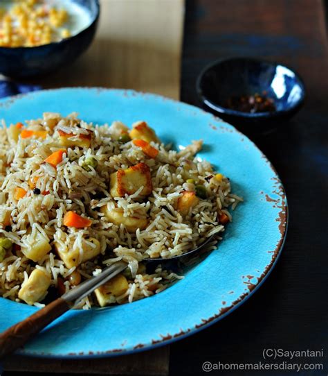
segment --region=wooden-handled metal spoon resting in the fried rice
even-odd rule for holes
[[[212,239],[214,235],[208,237],[206,241],[201,243],[200,246],[190,250],[187,253],[183,253],[183,255],[174,256],[167,259],[146,259],[143,262],[147,264],[152,264],[161,262],[161,264],[165,264],[166,262],[178,262],[179,259],[182,257],[189,257],[190,255],[194,255],[198,253],[200,250],[204,248]],[[46,307],[39,309],[39,311],[35,312],[31,316],[28,316],[23,321],[12,325],[7,330],[0,334],[0,359],[5,357],[6,355],[10,354],[20,348],[24,343],[26,343],[31,337],[35,334],[40,332],[44,327],[48,324],[52,323],[56,318],[62,316],[66,311],[69,309],[77,306],[83,298],[88,296],[92,293],[95,289],[105,284],[111,278],[115,277],[121,271],[127,268],[128,264],[123,261],[115,262],[107,268],[95,275],[89,280],[86,280],[75,287],[75,289],[71,289],[64,293],[60,298],[57,298],[53,302],[46,305]]]

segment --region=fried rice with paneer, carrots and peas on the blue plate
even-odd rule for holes
[[[181,278],[144,259],[167,259],[221,239],[242,198],[230,180],[180,151],[144,121],[131,130],[86,123],[78,114],[0,129],[0,296],[42,306],[103,268],[129,267],[80,307],[132,302]],[[35,273],[33,273],[33,271]]]

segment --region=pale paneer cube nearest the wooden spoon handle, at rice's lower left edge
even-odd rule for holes
[[[35,269],[28,280],[21,284],[18,297],[24,300],[28,305],[33,305],[35,302],[41,301],[51,284],[51,277],[48,273]]]

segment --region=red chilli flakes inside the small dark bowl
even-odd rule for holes
[[[254,95],[232,96],[226,101],[226,108],[240,112],[273,112],[275,111],[275,102],[268,98],[266,92]]]

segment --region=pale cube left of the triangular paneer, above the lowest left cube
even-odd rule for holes
[[[51,245],[48,237],[41,232],[37,231],[33,236],[28,235],[24,241],[24,246],[21,246],[21,252],[34,262],[42,259],[50,250]]]

